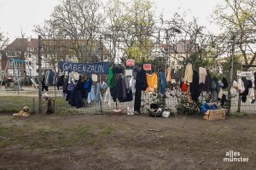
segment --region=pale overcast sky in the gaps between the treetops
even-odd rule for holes
[[[102,0],[106,2],[107,0]],[[20,37],[21,28],[26,37],[37,37],[32,31],[33,26],[43,24],[49,19],[56,4],[60,0],[0,0],[0,28],[14,40]],[[163,11],[164,18],[172,17],[174,12],[187,11],[189,15],[198,18],[201,25],[210,31],[218,32],[217,26],[210,24],[213,8],[223,0],[154,0],[157,13]]]

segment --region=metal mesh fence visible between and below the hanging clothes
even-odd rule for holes
[[[153,65],[154,71],[163,70],[164,63],[158,63]],[[102,77],[102,80],[108,82],[108,76]],[[38,111],[38,88],[32,88],[29,86],[29,83],[25,83],[22,87],[21,92],[18,94],[15,91],[7,91],[4,87],[1,88],[0,91],[0,112],[16,112],[20,111],[23,106],[27,105],[31,108],[32,112]],[[45,92],[42,92],[44,94]],[[224,92],[227,94],[227,91]],[[111,105],[108,105],[108,102],[104,102],[105,92],[102,91],[102,102],[101,103],[88,103],[86,99],[84,99],[84,107],[77,109],[71,105],[68,105],[66,101],[66,97],[62,92],[62,88],[57,89],[55,86],[49,86],[49,91],[47,92],[52,99],[55,99],[55,113],[60,114],[97,114],[97,113],[112,113],[113,109],[122,109],[124,113],[126,113],[127,108],[133,108],[134,100],[131,102],[119,103],[119,102],[111,102]],[[177,98],[181,94],[179,89],[174,91],[167,90],[166,91],[166,108],[175,112],[177,106]],[[231,112],[236,112],[238,107],[238,99],[231,99]],[[205,99],[200,99],[204,101]],[[147,112],[147,108],[149,104],[153,101],[153,94],[148,94],[143,92],[142,96],[142,111],[144,113]],[[47,101],[42,100],[42,109],[43,112],[46,110]],[[246,103],[241,102],[241,112],[254,113],[256,112],[256,103],[250,103],[247,101]]]

